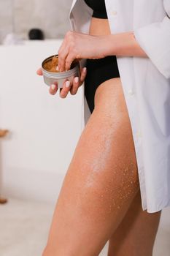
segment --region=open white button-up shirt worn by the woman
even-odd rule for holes
[[[112,34],[134,31],[149,58],[117,57],[131,121],[142,209],[170,206],[170,0],[105,0]],[[74,0],[72,29],[87,33],[93,13]],[[82,129],[90,117],[82,85]]]

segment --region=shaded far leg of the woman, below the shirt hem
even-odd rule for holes
[[[108,256],[152,256],[161,211],[142,210],[140,191],[117,230],[109,238]]]

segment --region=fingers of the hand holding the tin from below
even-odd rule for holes
[[[85,76],[87,73],[86,67],[83,67],[80,70],[80,72],[81,72],[80,79],[78,77],[74,78],[72,84],[69,81],[66,81],[66,83],[63,84],[63,88],[60,88],[60,97],[61,98],[66,98],[69,91],[70,91],[70,94],[72,94],[72,95],[77,94],[77,90],[78,90],[79,86],[81,86],[85,80]],[[36,71],[36,74],[42,75],[42,69],[41,68],[38,69]],[[50,89],[49,89],[50,94],[54,95],[54,94],[56,94],[57,91],[58,91],[57,84],[53,84],[50,86]]]

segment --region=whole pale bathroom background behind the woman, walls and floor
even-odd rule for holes
[[[52,97],[36,75],[57,53],[72,0],[0,0],[0,255],[37,256],[81,134],[82,88]],[[45,40],[29,40],[30,29]],[[64,135],[64,136],[63,136]],[[5,203],[7,199],[7,203]],[[170,255],[170,208],[163,209],[153,256]],[[104,246],[100,256],[107,255]]]

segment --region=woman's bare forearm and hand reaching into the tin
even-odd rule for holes
[[[133,31],[102,36],[68,31],[58,50],[58,69],[69,70],[74,59],[101,59],[112,55],[147,57]]]

